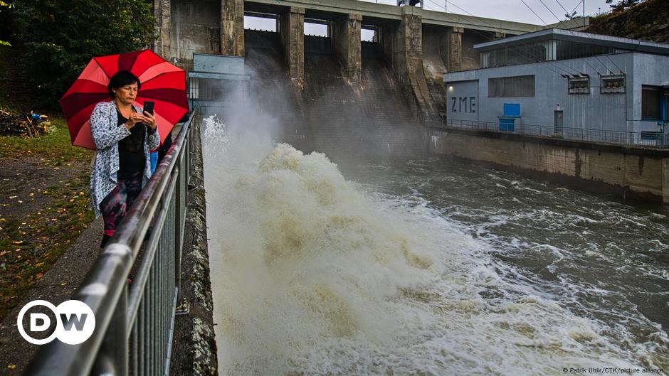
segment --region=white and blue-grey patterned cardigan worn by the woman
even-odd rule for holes
[[[139,114],[144,113],[142,107],[135,106]],[[130,135],[126,127],[119,127],[116,104],[112,102],[100,102],[95,105],[93,114],[90,114],[90,133],[98,152],[95,154],[92,171],[90,171],[90,204],[93,206],[95,217],[100,217],[100,203],[114,190],[117,183],[116,173],[119,169],[118,142]],[[139,125],[139,124],[138,124]],[[158,129],[147,135],[144,129],[144,176],[142,176],[142,187],[151,177],[151,163],[149,162],[149,149],[156,149],[160,143]]]

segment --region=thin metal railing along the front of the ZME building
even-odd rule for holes
[[[569,139],[576,141],[587,141],[601,144],[620,144],[630,146],[655,146],[660,148],[669,147],[669,134],[659,132],[628,132],[609,131],[602,129],[583,128],[556,128],[547,125],[515,124],[512,131],[500,130],[500,124],[493,122],[480,122],[477,120],[451,120],[443,122],[446,128],[475,129],[481,131],[492,131],[505,134],[520,134],[522,136],[551,137],[557,139]]]

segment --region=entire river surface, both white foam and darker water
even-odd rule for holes
[[[669,370],[662,208],[257,137],[206,121],[221,375]]]

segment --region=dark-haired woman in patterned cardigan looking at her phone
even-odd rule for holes
[[[156,118],[132,104],[139,87],[139,78],[131,72],[117,72],[107,85],[112,101],[96,104],[90,115],[90,133],[98,148],[90,173],[90,201],[95,217],[102,214],[105,219],[101,248],[149,181],[149,149],[160,141]]]

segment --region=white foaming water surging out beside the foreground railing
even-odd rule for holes
[[[570,365],[654,364],[652,346],[622,347],[427,200],[365,192],[323,154],[229,139],[213,120],[205,135],[221,375],[562,375]]]

